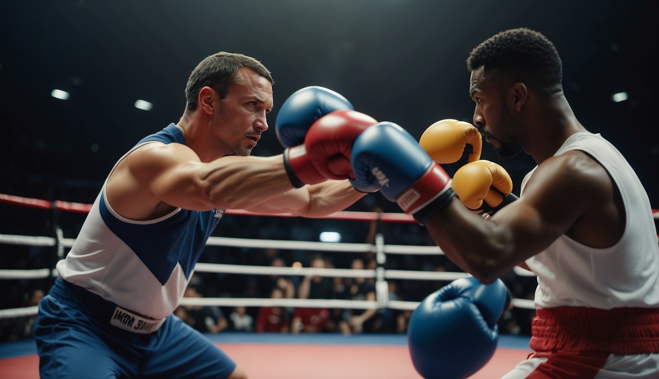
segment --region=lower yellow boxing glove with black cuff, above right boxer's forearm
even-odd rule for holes
[[[519,199],[512,193],[513,180],[508,172],[490,161],[465,164],[455,172],[451,187],[467,208],[479,214],[494,215],[505,205]]]

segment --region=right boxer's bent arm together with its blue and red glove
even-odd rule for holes
[[[379,188],[426,224],[451,261],[484,283],[568,232],[605,202],[603,184],[610,186],[596,161],[579,151],[565,153],[540,164],[523,197],[484,220],[455,200],[444,170],[395,124],[382,122],[362,133],[352,163],[357,188]]]

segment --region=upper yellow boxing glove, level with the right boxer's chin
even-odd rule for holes
[[[418,144],[436,163],[460,167],[480,159],[483,139],[469,122],[447,119],[428,126]]]

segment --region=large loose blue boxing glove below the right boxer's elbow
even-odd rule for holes
[[[497,322],[511,296],[498,279],[488,285],[461,278],[430,294],[412,313],[407,342],[421,376],[467,378],[480,370],[496,350]]]

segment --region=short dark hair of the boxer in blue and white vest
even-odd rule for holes
[[[256,71],[274,84],[268,68],[256,59],[239,53],[220,51],[206,57],[192,70],[188,84],[185,86],[185,113],[196,109],[199,92],[206,86],[215,89],[220,99],[224,99],[229,87],[235,83],[236,72],[243,66]]]

